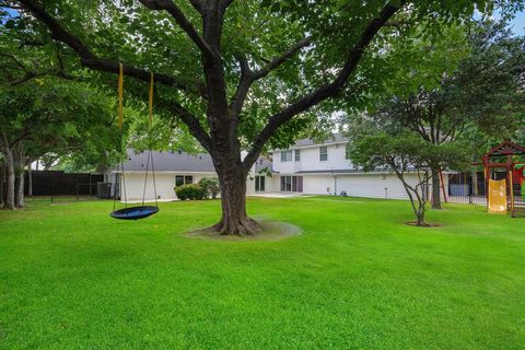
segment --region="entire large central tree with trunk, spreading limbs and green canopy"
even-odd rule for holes
[[[2,1],[42,21],[81,63],[161,84],[158,108],[179,118],[213,161],[221,184],[225,234],[250,234],[246,176],[270,142],[285,147],[311,117],[357,106],[381,80],[378,52],[399,37],[396,13],[427,23],[468,19],[516,1],[124,0]],[[31,18],[30,18],[31,19]],[[85,21],[89,19],[89,21]],[[383,28],[383,30],[382,30]],[[381,33],[380,33],[381,31]],[[140,43],[138,43],[140,40]],[[305,49],[305,47],[308,49]],[[133,82],[136,84],[136,82]],[[132,86],[131,86],[132,89]],[[339,103],[322,104],[331,97]],[[319,106],[316,109],[312,109]],[[242,158],[241,151],[247,150]]]

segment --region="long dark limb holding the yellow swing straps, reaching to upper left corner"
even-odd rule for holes
[[[62,42],[71,47],[79,56],[83,66],[93,70],[118,73],[119,63],[98,58],[95,56],[78,37],[70,34],[58,21],[42,8],[36,0],[18,0],[25,10],[30,11],[37,20],[43,22],[51,32],[51,37],[55,40]],[[124,73],[145,82],[150,81],[150,72],[131,66],[124,66]],[[177,88],[186,92],[194,92],[203,95],[200,86],[187,86],[175,78],[166,74],[155,73],[155,82],[164,85]]]

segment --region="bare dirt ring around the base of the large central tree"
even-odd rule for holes
[[[257,242],[280,241],[301,235],[302,231],[295,225],[279,221],[259,221],[262,230],[253,235],[223,235],[212,228],[190,230],[186,233],[190,238],[213,240],[223,242]]]

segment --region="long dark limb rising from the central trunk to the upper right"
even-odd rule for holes
[[[400,1],[401,7],[405,2],[405,0]],[[372,42],[377,32],[399,9],[400,7],[388,3],[383,8],[380,15],[370,22],[366,28],[361,33],[358,43],[350,50],[345,66],[331,83],[318,88],[269,118],[265,128],[262,128],[254,140],[252,149],[243,161],[245,168],[249,168],[254,164],[265,143],[280,126],[319,102],[337,95],[345,88],[347,81],[358,68],[358,63],[361,60],[365,48]]]

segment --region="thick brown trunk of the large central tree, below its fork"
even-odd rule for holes
[[[246,177],[241,164],[236,168],[218,168],[221,186],[222,218],[213,229],[221,234],[250,235],[260,225],[246,214]]]

